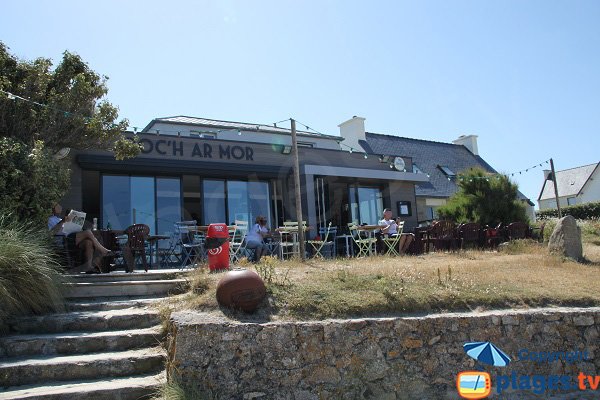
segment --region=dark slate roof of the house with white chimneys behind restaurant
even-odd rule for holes
[[[429,182],[415,185],[417,196],[450,197],[456,193],[456,180],[448,180],[448,176],[439,166],[448,167],[456,174],[472,167],[480,167],[491,173],[497,172],[483,158],[474,155],[463,145],[371,132],[366,133],[366,142],[361,143],[365,151],[368,149],[372,154],[411,157],[413,164],[423,173],[429,174]],[[519,198],[529,201],[520,192]],[[529,204],[533,205],[531,201]]]

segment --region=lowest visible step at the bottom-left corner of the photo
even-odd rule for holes
[[[46,386],[18,386],[2,391],[0,400],[142,400],[151,398],[166,382],[164,372]]]

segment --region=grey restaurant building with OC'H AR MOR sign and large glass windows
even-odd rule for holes
[[[413,172],[410,157],[345,143],[344,135],[360,129],[364,119],[354,117],[340,124],[341,136],[298,131],[304,219],[313,227],[373,224],[389,207],[407,229],[416,226],[415,184],[427,176]],[[144,223],[157,234],[191,219],[253,223],[264,215],[273,228],[296,220],[289,129],[177,116],[127,135],[144,146],[136,158],[117,161],[104,151],[72,157],[64,207],[97,217],[101,227]]]

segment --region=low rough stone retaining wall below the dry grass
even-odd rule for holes
[[[566,375],[573,382],[579,372],[599,375],[599,311],[548,308],[269,323],[178,312],[171,321],[169,372],[206,398],[457,399],[457,373],[476,367],[462,345],[491,341],[512,358],[504,368],[484,366],[492,379],[491,398],[550,398],[548,391],[510,387],[499,395],[496,387],[500,375],[513,373]],[[536,363],[519,360],[522,350],[587,352],[587,360]],[[556,395],[600,398],[600,387]]]

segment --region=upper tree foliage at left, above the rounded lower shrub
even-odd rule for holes
[[[104,99],[106,81],[68,51],[52,69],[51,60],[21,61],[0,42],[0,89],[38,103],[0,95],[0,136],[31,148],[42,140],[50,151],[118,148],[118,159],[136,156],[139,145],[122,135],[127,120],[116,122],[118,109]]]

